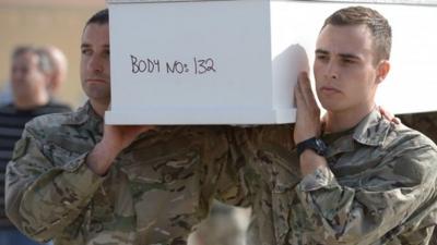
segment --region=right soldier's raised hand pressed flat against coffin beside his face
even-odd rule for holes
[[[297,144],[320,135],[320,109],[316,102],[308,73],[299,74],[294,94],[297,108],[294,140]]]

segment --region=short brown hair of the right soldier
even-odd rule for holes
[[[378,11],[365,7],[349,7],[329,16],[321,29],[327,25],[366,25],[374,37],[375,63],[390,59],[391,26]]]

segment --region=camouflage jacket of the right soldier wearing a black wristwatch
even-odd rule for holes
[[[257,144],[247,137],[241,144]],[[261,181],[251,244],[428,243],[437,221],[437,148],[421,133],[374,111],[329,144],[329,168],[305,177],[295,151],[259,140],[252,147]]]

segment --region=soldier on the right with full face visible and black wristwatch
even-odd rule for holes
[[[295,89],[297,149],[288,160],[255,164],[264,167],[259,175],[270,170],[253,208],[261,244],[428,244],[437,148],[375,107],[390,47],[389,23],[375,10],[352,7],[326,20],[314,73],[327,114],[320,120],[304,73]]]

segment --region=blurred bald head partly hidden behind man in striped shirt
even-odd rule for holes
[[[68,61],[66,54],[55,46],[46,46],[40,49],[46,52],[52,63],[51,79],[48,85],[50,94],[59,93],[59,88],[67,79]]]

